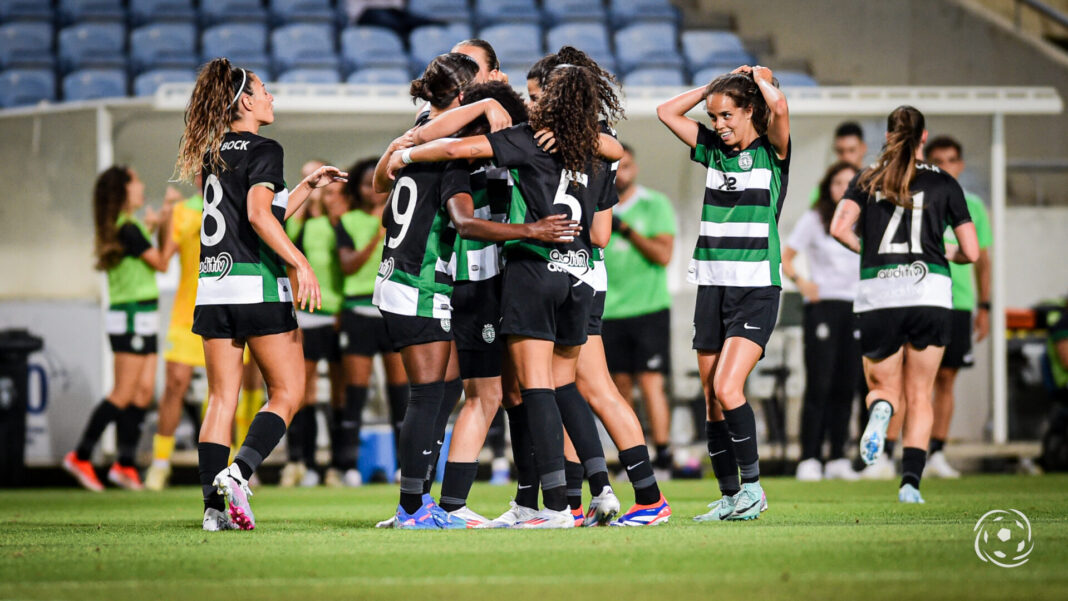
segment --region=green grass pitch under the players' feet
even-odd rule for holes
[[[928,480],[922,506],[891,481],[768,478],[758,521],[692,522],[713,488],[666,484],[664,526],[555,532],[378,531],[389,486],[261,487],[251,533],[202,532],[193,488],[0,492],[0,599],[1068,599],[1065,476]],[[472,508],[496,517],[511,490],[478,485]],[[973,551],[976,520],[1008,508],[1034,532],[1015,569]]]

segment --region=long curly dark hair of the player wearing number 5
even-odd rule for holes
[[[534,131],[550,129],[556,137],[564,169],[582,172],[600,167],[597,154],[600,105],[597,76],[585,67],[562,65],[553,69],[541,97],[530,110]]]

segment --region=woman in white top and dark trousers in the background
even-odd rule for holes
[[[819,181],[816,206],[801,216],[783,248],[783,274],[797,284],[805,300],[799,480],[860,478],[845,456],[853,394],[861,377],[853,317],[858,257],[831,236],[834,207],[854,175],[857,168],[845,161],[827,170]],[[801,278],[794,267],[798,252],[808,258],[811,279]],[[824,436],[831,444],[826,465],[820,460]]]

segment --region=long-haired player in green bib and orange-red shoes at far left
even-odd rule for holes
[[[75,450],[63,458],[63,469],[81,486],[104,490],[90,456],[108,424],[116,423],[119,458],[108,479],[127,489],[140,490],[141,477],[134,463],[141,423],[152,402],[156,382],[156,336],[159,329],[156,271],[167,262],[152,246],[150,228],[135,212],[144,206],[144,184],[132,169],[108,168],[93,188],[96,226],[96,268],[108,273],[108,313],[105,327],[114,353],[114,385],[90,415]],[[169,215],[161,216],[166,231]],[[145,221],[160,225],[148,211]]]

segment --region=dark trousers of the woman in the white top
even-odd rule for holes
[[[853,303],[827,300],[804,306],[804,405],[801,459],[820,458],[824,437],[829,459],[844,457],[853,395],[861,378],[860,341]]]

